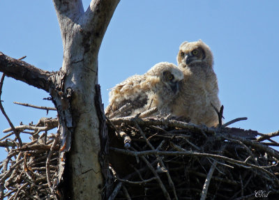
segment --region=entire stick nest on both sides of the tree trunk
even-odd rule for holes
[[[59,197],[60,139],[51,133],[57,126],[56,118],[41,118],[36,125],[3,130],[0,146],[8,155],[0,164],[0,199]],[[107,118],[107,127],[112,179],[107,199],[279,197],[279,153],[270,147],[279,145],[272,139],[278,132],[261,136],[141,116]],[[22,142],[22,134],[30,134],[30,141]]]

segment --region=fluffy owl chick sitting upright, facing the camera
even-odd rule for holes
[[[190,122],[213,126],[218,124],[220,109],[218,82],[213,71],[213,54],[209,46],[198,40],[179,47],[177,63],[184,79],[174,101],[173,114],[190,118]]]

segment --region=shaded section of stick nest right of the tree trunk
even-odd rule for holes
[[[259,134],[165,118],[110,121],[111,199],[255,199],[279,197],[279,153]],[[113,134],[113,133],[116,134]],[[119,157],[121,157],[119,159]]]

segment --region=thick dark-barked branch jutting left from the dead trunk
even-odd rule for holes
[[[52,75],[50,72],[40,70],[24,61],[13,59],[2,52],[0,52],[0,72],[38,89],[43,89],[47,92],[50,89],[51,83],[48,80],[48,77]]]

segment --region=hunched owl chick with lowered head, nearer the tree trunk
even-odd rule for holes
[[[158,108],[157,114],[170,113],[182,79],[183,72],[174,64],[157,63],[144,75],[133,75],[114,86],[110,91],[110,105],[105,114],[110,116],[128,103],[131,108],[125,116],[142,113],[151,107]]]

